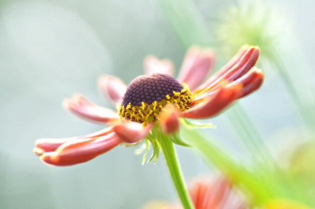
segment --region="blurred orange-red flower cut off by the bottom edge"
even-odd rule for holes
[[[244,195],[233,188],[233,185],[223,176],[212,178],[197,178],[189,188],[196,209],[249,208]],[[181,209],[181,205],[161,201],[147,203],[143,209]]]

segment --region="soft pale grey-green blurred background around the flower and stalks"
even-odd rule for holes
[[[221,38],[224,24],[233,21],[229,8],[238,3],[194,3],[209,26],[219,69],[237,52]],[[281,41],[283,63],[292,73],[306,75],[308,91],[315,83],[315,2],[275,0],[265,6],[276,11],[270,17],[281,23],[268,30]],[[136,148],[119,146],[88,163],[59,168],[47,166],[32,152],[37,138],[102,129],[66,112],[62,99],[81,92],[111,107],[97,89],[98,76],[113,74],[129,83],[142,74],[147,54],[174,60],[177,72],[185,55],[157,1],[0,0],[0,208],[141,208],[152,199],[175,201],[163,157],[155,165],[141,165],[142,156],[133,153]],[[240,103],[272,153],[282,156],[290,146],[312,138],[311,130],[305,128],[274,65],[264,57],[259,65],[265,83]],[[246,161],[227,116],[211,121],[217,129],[206,134]],[[211,173],[192,149],[178,147],[178,154],[187,181]]]

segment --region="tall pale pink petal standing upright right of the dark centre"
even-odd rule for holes
[[[198,87],[207,77],[214,66],[215,55],[209,49],[191,47],[185,56],[178,80],[180,83],[187,83],[191,90]]]

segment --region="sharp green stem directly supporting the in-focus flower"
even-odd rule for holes
[[[163,136],[163,134],[161,135],[161,148],[177,194],[185,209],[193,209],[195,207],[185,184],[185,179],[180,168],[174,144],[167,136]]]

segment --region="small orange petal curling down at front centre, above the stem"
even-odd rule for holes
[[[160,113],[160,126],[166,134],[172,134],[179,130],[180,123],[178,120],[180,113],[175,107],[164,107]]]

